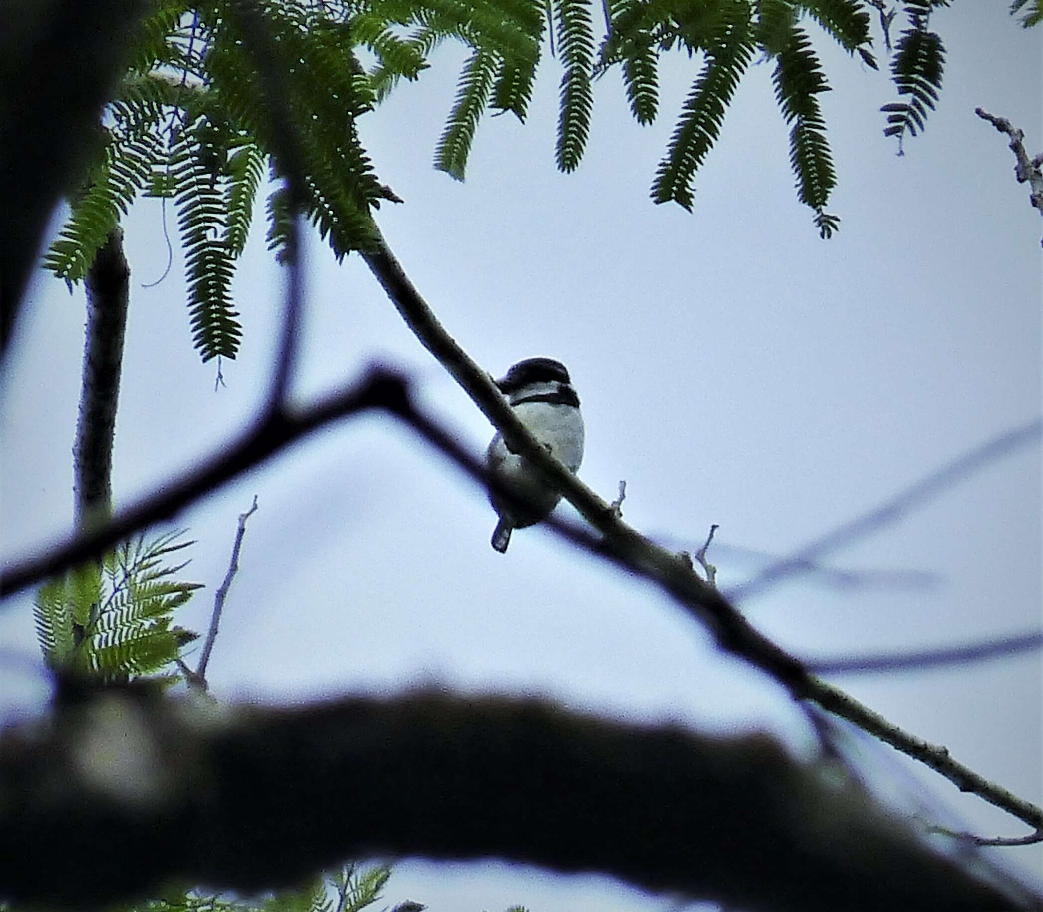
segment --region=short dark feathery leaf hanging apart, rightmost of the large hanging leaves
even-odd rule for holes
[[[905,15],[909,27],[905,29],[895,45],[891,61],[891,76],[899,95],[907,95],[908,101],[895,101],[880,110],[888,115],[884,136],[898,137],[898,151],[906,133],[916,136],[923,130],[927,111],[933,110],[938,93],[942,88],[945,69],[945,46],[941,37],[929,28],[930,14],[939,6],[947,6],[948,0],[912,0],[905,3]]]

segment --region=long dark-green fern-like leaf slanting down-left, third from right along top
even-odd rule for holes
[[[753,57],[750,9],[733,3],[706,49],[706,61],[685,99],[652,184],[652,199],[692,209],[693,178],[721,133],[725,107]]]

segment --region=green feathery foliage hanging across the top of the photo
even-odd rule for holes
[[[825,206],[835,184],[816,96],[826,91],[810,41],[811,19],[850,54],[875,67],[865,0],[603,0],[604,39],[591,0],[259,0],[266,47],[259,53],[238,0],[155,0],[129,49],[130,64],[110,103],[82,192],[45,264],[68,283],[83,279],[112,227],[137,195],[170,198],[177,211],[189,280],[192,335],[203,360],[234,358],[242,329],[234,277],[258,194],[268,193],[269,248],[283,259],[294,213],[282,186],[290,145],[299,162],[302,214],[338,260],[372,243],[371,214],[396,199],[363,147],[359,119],[404,81],[417,79],[431,53],[453,41],[469,53],[435,166],[462,179],[488,110],[525,120],[544,38],[557,48],[560,82],[558,167],[582,160],[593,109],[592,79],[618,67],[639,124],[659,109],[661,54],[699,57],[698,75],[652,184],[657,202],[690,209],[699,168],[720,136],[725,111],[754,54],[775,59],[776,98],[791,124],[798,197],[823,237],[836,220]],[[906,0],[909,27],[891,67],[902,100],[884,105],[887,133],[922,129],[941,87],[944,48],[929,29],[947,0]],[[1022,24],[1043,18],[1039,0],[1014,0]],[[800,35],[798,38],[798,35]],[[600,44],[600,53],[596,48]],[[261,63],[259,64],[259,61]],[[259,67],[264,69],[262,73]],[[284,97],[273,103],[271,86]],[[904,97],[907,96],[907,97]],[[276,186],[272,188],[270,182]]]

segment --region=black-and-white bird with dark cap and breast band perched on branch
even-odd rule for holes
[[[583,461],[583,415],[565,365],[553,358],[527,358],[495,383],[522,424],[569,472],[577,472]],[[550,515],[561,494],[548,485],[528,459],[512,451],[499,432],[489,441],[485,461],[490,475],[526,504],[507,503],[489,491],[489,502],[500,515],[490,544],[503,554],[511,532]]]

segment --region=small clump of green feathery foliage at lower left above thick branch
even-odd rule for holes
[[[175,578],[187,561],[166,563],[193,544],[183,535],[138,536],[41,586],[33,618],[48,666],[111,681],[174,662],[196,634],[173,627],[173,613],[200,587]]]

